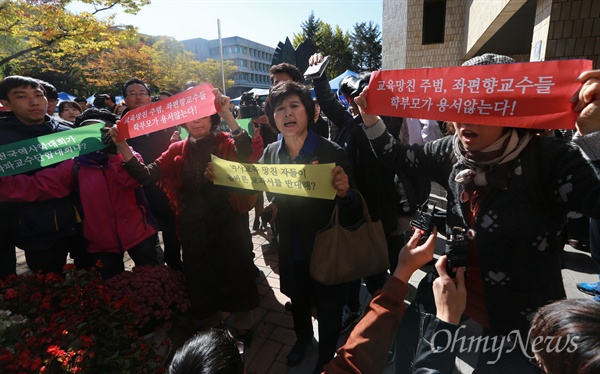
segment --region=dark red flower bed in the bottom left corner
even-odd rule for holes
[[[27,320],[7,328],[4,373],[161,373],[163,358],[138,337],[136,311],[97,272],[30,274],[0,282],[0,310]]]

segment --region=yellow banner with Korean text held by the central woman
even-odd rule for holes
[[[221,186],[328,200],[336,195],[331,185],[335,164],[241,164],[214,155],[212,164],[214,183]]]

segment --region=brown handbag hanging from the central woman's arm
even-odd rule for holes
[[[329,224],[315,236],[310,258],[310,275],[319,283],[341,284],[386,271],[390,267],[387,242],[381,221],[371,221],[367,203],[363,217],[352,227],[340,225],[336,204]]]

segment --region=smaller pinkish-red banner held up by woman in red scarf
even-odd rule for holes
[[[213,86],[201,84],[128,112],[119,121],[119,139],[135,138],[217,113]]]

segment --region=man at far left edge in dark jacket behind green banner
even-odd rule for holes
[[[37,79],[16,75],[4,78],[0,82],[0,103],[9,110],[0,118],[0,145],[70,130],[46,113],[48,100]],[[0,278],[16,272],[15,246],[25,251],[27,265],[34,272],[61,272],[69,251],[76,265],[85,266],[79,261],[83,253],[81,220],[74,202],[73,196],[67,196],[44,202],[0,204]]]

